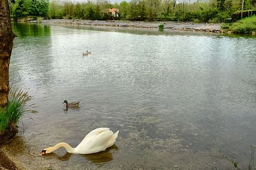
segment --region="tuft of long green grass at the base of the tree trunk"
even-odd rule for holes
[[[31,96],[29,96],[28,92],[22,90],[10,92],[6,108],[0,108],[0,135],[7,130],[16,131],[17,122],[25,113],[36,112],[30,109],[32,104],[27,106],[26,103],[29,101],[31,101]]]

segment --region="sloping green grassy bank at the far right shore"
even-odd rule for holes
[[[243,18],[232,24],[222,24],[221,29],[239,34],[252,34],[256,31],[256,16]]]

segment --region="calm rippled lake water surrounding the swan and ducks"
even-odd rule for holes
[[[248,167],[255,37],[37,24],[13,31],[10,83],[28,90],[38,111],[20,125],[26,154],[17,154],[28,168],[232,168],[223,155]],[[65,99],[81,106],[65,111]],[[120,131],[106,152],[39,155],[59,142],[75,147],[97,127]]]

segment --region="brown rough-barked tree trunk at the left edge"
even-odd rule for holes
[[[8,102],[9,64],[12,53],[13,38],[8,0],[0,1],[0,107]]]

